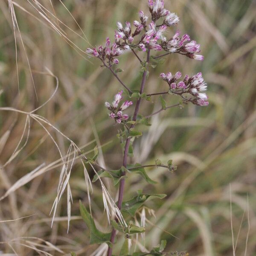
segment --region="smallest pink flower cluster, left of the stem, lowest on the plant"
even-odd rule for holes
[[[122,111],[125,110],[126,108],[128,108],[130,105],[132,105],[132,102],[125,101],[119,107],[119,103],[121,102],[121,100],[123,98],[122,93],[123,93],[123,91],[121,90],[114,96],[114,100],[113,100],[112,104],[109,102],[105,102],[106,108],[108,108],[108,110],[111,111],[111,113],[109,113],[108,116],[112,119],[115,119],[115,121],[117,123],[121,123],[122,121],[125,121],[129,118],[129,116],[126,114],[123,114]]]

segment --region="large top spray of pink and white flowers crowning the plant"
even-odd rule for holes
[[[140,21],[134,20],[134,32],[132,32],[131,23],[126,21],[125,26],[121,22],[117,22],[117,30],[115,30],[115,43],[110,46],[109,38],[107,38],[105,47],[87,49],[87,53],[100,58],[102,61],[108,59],[111,66],[113,63],[118,64],[117,56],[124,53],[124,50],[139,48],[143,52],[147,49],[156,51],[164,50],[166,52],[177,52],[186,55],[195,60],[204,60],[204,56],[198,54],[200,52],[200,44],[196,41],[190,41],[189,35],[185,34],[180,37],[180,31],[177,31],[172,38],[167,39],[164,33],[168,26],[174,26],[179,22],[179,17],[175,13],[164,9],[163,0],[148,0],[149,11],[151,12],[151,22],[147,24],[148,16],[143,11],[139,12]],[[160,25],[157,20],[163,18]],[[141,35],[140,39],[135,42],[135,37]]]

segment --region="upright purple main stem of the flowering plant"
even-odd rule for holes
[[[147,64],[148,64],[149,60],[150,60],[150,50],[148,50],[148,54],[147,54]],[[143,72],[142,81],[141,81],[141,85],[140,85],[140,94],[143,93],[143,90],[145,87],[147,71],[148,71],[148,67],[146,67],[146,70]],[[141,100],[142,100],[141,98],[137,99],[135,110],[134,110],[133,121],[136,121],[136,119],[137,119],[137,115],[140,110]],[[133,128],[133,127],[134,127],[134,125],[131,125],[131,128]],[[123,158],[123,166],[124,167],[127,166],[128,149],[129,149],[129,145],[130,145],[130,140],[131,140],[131,137],[128,137],[126,140],[126,143],[125,143],[124,158]],[[123,172],[122,175],[125,176],[125,172]],[[123,199],[123,195],[124,195],[124,189],[125,189],[125,179],[122,178],[120,180],[118,201],[117,201],[117,207],[119,209],[121,209],[121,207],[122,207],[122,199]],[[110,239],[112,245],[114,243],[115,237],[116,237],[116,230],[113,228],[112,233],[111,233],[111,239]],[[107,256],[112,255],[112,250],[113,250],[113,248],[109,246]]]

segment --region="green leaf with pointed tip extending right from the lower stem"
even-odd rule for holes
[[[122,203],[122,211],[128,212],[131,216],[134,216],[137,209],[143,206],[143,203],[151,199],[162,199],[165,198],[164,194],[142,194],[139,192],[134,198]]]

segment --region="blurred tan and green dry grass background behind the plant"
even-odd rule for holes
[[[122,151],[116,138],[119,127],[108,119],[104,102],[111,101],[120,86],[108,70],[99,67],[98,60],[88,59],[83,51],[90,44],[102,44],[107,36],[113,41],[116,20],[137,20],[138,10],[147,12],[147,1],[39,2],[45,9],[40,10],[35,0],[13,1],[26,49],[25,52],[16,29],[18,87],[12,18],[8,1],[0,1],[0,107],[32,111],[45,102],[56,86],[52,76],[40,73],[47,72],[47,67],[58,77],[59,88],[52,100],[36,113],[47,118],[84,152],[98,145],[101,148],[99,162],[108,169],[117,169],[122,163]],[[177,28],[201,44],[205,60],[198,62],[170,55],[164,64],[150,70],[145,90],[147,93],[165,90],[165,84],[158,79],[161,72],[180,70],[184,75],[193,75],[201,71],[208,83],[210,104],[163,111],[151,119],[150,127],[143,127],[144,135],[135,143],[133,161],[154,164],[157,159],[171,158],[178,169],[175,173],[148,169],[148,175],[158,181],[156,186],[148,185],[140,176],[128,175],[125,199],[134,196],[140,188],[148,193],[167,194],[163,200],[145,204],[154,210],[155,217],[146,211],[145,241],[142,238],[139,241],[151,249],[161,239],[166,239],[166,251],[186,250],[192,256],[233,255],[233,245],[235,255],[245,255],[245,251],[248,256],[256,255],[256,1],[166,0],[165,4],[180,17]],[[49,21],[38,10],[46,12]],[[51,24],[61,29],[66,38]],[[131,89],[137,89],[141,76],[137,59],[126,54],[119,60],[119,66],[125,70],[120,77]],[[178,99],[168,96],[166,101],[171,105]],[[156,97],[154,103],[143,104],[141,113],[150,114],[159,108]],[[48,165],[59,159],[58,150],[47,132],[31,120],[26,146],[3,167],[19,143],[25,120],[22,113],[0,111],[0,196],[41,163]],[[46,128],[65,155],[68,141],[49,125]],[[26,136],[21,144],[25,140]],[[88,199],[83,168],[78,161],[70,177],[74,202],[69,233],[64,197],[52,229],[50,227],[49,212],[60,171],[59,166],[48,168],[0,201],[0,241],[10,241],[9,245],[0,244],[2,253],[13,253],[11,247],[21,256],[40,254],[33,247],[52,255],[69,255],[71,250],[77,255],[91,255],[96,250],[97,245],[89,245],[88,229],[79,217],[79,199],[87,207]],[[92,178],[93,171],[88,168],[88,172]],[[104,182],[116,198],[117,188],[112,186],[111,180]],[[93,183],[91,205],[97,226],[107,231],[98,182]],[[32,214],[35,215],[3,222]],[[140,222],[139,214],[137,220]],[[23,239],[18,239],[21,237]],[[24,237],[44,239],[65,253],[56,252],[42,240]],[[118,241],[116,254],[123,237],[118,236]]]

